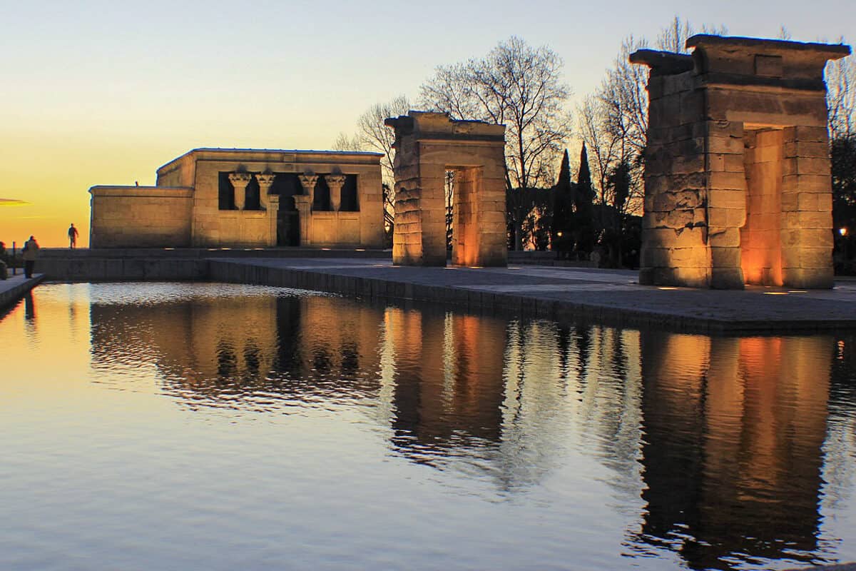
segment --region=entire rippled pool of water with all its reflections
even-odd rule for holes
[[[854,561],[854,343],[42,285],[0,320],[0,568]]]

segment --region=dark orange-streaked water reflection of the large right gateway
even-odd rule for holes
[[[827,337],[642,337],[639,541],[692,568],[817,549]]]

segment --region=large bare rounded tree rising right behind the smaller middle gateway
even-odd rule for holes
[[[571,132],[565,110],[570,89],[561,75],[562,58],[555,51],[512,36],[486,57],[438,67],[420,87],[419,104],[455,119],[504,124],[508,188],[550,186]],[[519,249],[526,212],[522,204],[513,204],[509,214]]]

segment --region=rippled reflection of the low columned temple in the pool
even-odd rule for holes
[[[152,360],[186,403],[269,409],[377,396],[377,308],[323,296],[93,304],[94,366]]]

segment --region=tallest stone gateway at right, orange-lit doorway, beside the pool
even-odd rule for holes
[[[697,35],[651,68],[639,282],[831,288],[823,68],[846,45]]]

